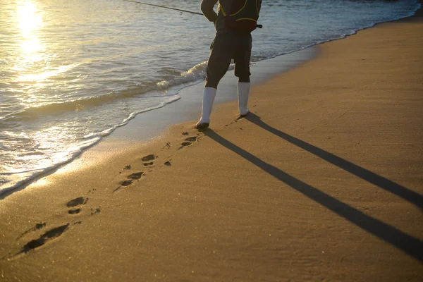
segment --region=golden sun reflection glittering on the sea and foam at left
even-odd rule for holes
[[[12,13],[16,30],[16,41],[13,43],[16,48],[13,49],[13,64],[9,68],[15,73],[13,82],[17,82],[16,88],[20,90],[20,95],[15,99],[25,109],[49,105],[53,101],[49,95],[51,88],[63,86],[63,81],[56,77],[80,63],[64,64],[56,60],[61,55],[58,51],[61,48],[54,41],[54,33],[48,32],[49,21],[51,22],[49,11],[43,9],[37,1],[18,0]],[[46,19],[47,29],[44,27],[43,17]],[[54,102],[58,101],[61,102],[60,99]],[[67,161],[75,154],[75,148],[61,148],[60,145],[78,142],[73,140],[72,128],[66,123],[45,123],[38,130],[11,135],[8,145],[31,147],[32,150],[16,152],[13,164],[1,168],[1,171],[30,173]]]

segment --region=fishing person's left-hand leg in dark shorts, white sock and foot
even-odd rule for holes
[[[228,71],[233,56],[233,50],[234,46],[231,44],[228,35],[216,35],[212,45],[212,51],[210,52],[209,61],[207,62],[207,77],[202,101],[202,114],[200,121],[195,125],[197,129],[207,128],[209,126],[217,85],[226,71]]]

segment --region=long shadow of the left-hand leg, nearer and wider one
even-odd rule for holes
[[[342,216],[344,219],[354,223],[356,226],[362,228],[364,231],[372,233],[373,235],[379,237],[381,240],[384,240],[386,243],[389,243],[399,250],[402,250],[407,255],[418,259],[420,262],[423,262],[423,242],[417,238],[404,233],[403,231],[398,230],[397,228],[388,225],[378,219],[374,219],[372,216],[363,214],[362,212],[350,207],[348,204],[336,200],[334,197],[327,195],[321,190],[308,185],[307,183],[302,182],[301,180],[290,176],[288,173],[281,171],[279,168],[267,164],[265,161],[255,157],[253,154],[241,149],[232,142],[226,140],[225,138],[218,135],[213,130],[209,129],[204,131],[204,134],[212,138],[212,140],[218,142],[223,147],[230,149],[232,152],[239,154],[241,157],[250,161],[255,166],[261,168],[266,173],[269,173],[274,178],[286,183],[291,188],[302,193],[314,202],[321,204],[332,212]]]

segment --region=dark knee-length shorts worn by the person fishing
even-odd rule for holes
[[[250,33],[217,33],[207,63],[206,87],[217,88],[232,59],[235,62],[235,76],[239,78],[238,81],[250,82],[251,44]]]

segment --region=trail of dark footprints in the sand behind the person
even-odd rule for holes
[[[189,133],[187,133],[187,132],[184,132],[182,134],[183,135],[189,135]],[[180,144],[179,149],[182,149],[183,147],[188,147],[188,146],[192,145],[192,142],[196,142],[198,140],[198,138],[199,138],[199,136],[186,137],[185,140],[183,140],[183,142]],[[171,143],[168,142],[163,149],[170,149],[170,148],[171,148]],[[149,154],[145,157],[142,157],[141,161],[142,161],[143,166],[153,167],[154,161],[156,161],[157,158],[159,158],[159,156],[157,156],[156,154]],[[171,166],[172,165],[171,159],[165,161],[164,165],[165,166]],[[128,165],[128,166],[125,166],[123,168],[123,171],[130,171],[132,168],[133,167],[131,165]],[[151,172],[151,171],[149,171],[149,172]],[[121,189],[122,187],[126,187],[126,186],[133,184],[133,182],[135,180],[140,180],[143,176],[145,176],[145,172],[143,172],[143,171],[131,173],[130,175],[128,175],[126,177],[127,179],[125,179],[125,180],[123,180],[119,183],[118,188],[116,188],[113,192],[116,192],[117,190]],[[96,191],[96,189],[89,190],[87,192],[87,194],[92,194],[95,191]],[[68,201],[65,204],[66,208],[68,210],[68,215],[73,216],[73,217],[79,216],[82,213],[83,207],[85,206],[85,204],[87,204],[87,202],[89,200],[90,200],[89,197],[77,197],[75,199]],[[90,214],[88,214],[88,216],[92,216],[92,215],[98,214],[100,212],[101,212],[101,207],[97,207],[97,208],[91,207],[90,208]],[[11,259],[13,259],[14,257],[19,257],[19,255],[25,255],[25,254],[27,254],[27,252],[30,252],[31,250],[35,250],[38,247],[42,247],[43,245],[49,243],[51,240],[55,240],[56,238],[61,237],[61,235],[63,235],[63,233],[68,231],[72,226],[75,226],[75,225],[81,224],[81,223],[82,223],[82,221],[79,221],[79,220],[71,220],[67,223],[63,223],[60,226],[50,228],[49,230],[47,230],[44,233],[42,233],[41,235],[39,235],[38,238],[29,240],[27,243],[25,243],[23,245],[23,247],[21,247],[19,252],[17,252],[15,255],[11,256]],[[47,227],[48,227],[47,222],[41,221],[39,223],[36,223],[35,226],[33,226],[32,228],[29,228],[27,231],[20,234],[18,236],[18,238],[16,238],[16,240],[21,240],[22,238],[30,237],[30,235],[37,233],[37,232],[40,232],[40,231],[44,230],[44,228],[47,228]]]

